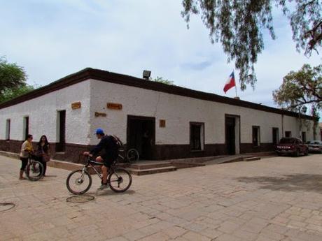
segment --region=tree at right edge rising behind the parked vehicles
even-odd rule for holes
[[[318,122],[318,111],[322,110],[322,65],[311,68],[304,64],[300,71],[290,71],[283,78],[279,89],[273,92],[274,102],[301,114],[305,114],[307,106],[311,108],[311,115],[314,117],[314,137]],[[302,119],[300,119],[302,126]]]

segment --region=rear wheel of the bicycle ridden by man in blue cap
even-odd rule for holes
[[[127,170],[117,168],[109,175],[107,182],[113,191],[120,193],[130,188],[132,184],[132,176]]]

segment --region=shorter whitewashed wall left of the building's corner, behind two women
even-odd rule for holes
[[[71,109],[71,103],[81,102],[81,108]],[[89,143],[90,81],[80,82],[64,89],[0,109],[0,139],[5,139],[6,119],[10,119],[10,140],[23,140],[23,119],[29,116],[29,133],[38,141],[46,135],[52,143],[57,136],[57,111],[66,110],[66,143]]]

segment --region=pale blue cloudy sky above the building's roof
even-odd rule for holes
[[[234,64],[220,43],[211,44],[199,15],[187,29],[182,9],[181,0],[0,0],[0,56],[23,66],[30,84],[48,85],[86,67],[138,78],[146,69],[152,78],[234,97],[235,89],[223,92]],[[297,53],[288,20],[274,12],[277,39],[265,32],[255,90],[237,91],[245,101],[276,107],[272,91],[283,76],[321,64],[321,55]]]

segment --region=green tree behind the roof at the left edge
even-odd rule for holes
[[[27,85],[27,75],[17,64],[10,64],[0,57],[0,103],[9,101],[34,90],[36,86]]]

